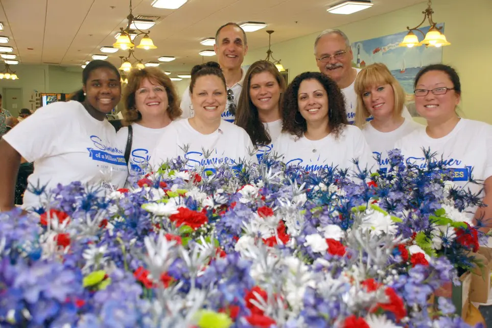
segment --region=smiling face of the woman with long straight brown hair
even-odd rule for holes
[[[270,72],[261,72],[251,76],[249,98],[259,112],[278,111],[280,86]]]

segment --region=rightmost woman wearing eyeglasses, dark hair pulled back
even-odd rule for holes
[[[461,83],[456,71],[443,64],[429,65],[415,77],[415,105],[427,120],[426,129],[417,129],[396,142],[407,163],[426,167],[422,148],[436,153],[435,161],[444,161],[453,169],[453,181],[462,188],[480,193],[484,181],[483,202],[488,207],[469,209],[471,216],[492,218],[492,126],[460,118],[456,107],[461,99]],[[472,176],[473,174],[473,176]],[[482,229],[483,230],[483,229]]]

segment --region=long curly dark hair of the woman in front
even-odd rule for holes
[[[338,138],[344,126],[348,123],[347,115],[345,114],[345,99],[337,83],[319,72],[301,73],[287,87],[282,106],[282,132],[289,132],[301,137],[302,134],[308,131],[308,125],[299,112],[297,102],[299,86],[304,80],[317,80],[326,91],[328,95],[328,127],[330,128],[330,133],[333,133]]]

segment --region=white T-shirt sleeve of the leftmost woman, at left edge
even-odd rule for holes
[[[54,103],[41,107],[19,122],[3,138],[27,161],[57,155],[63,133],[71,133],[70,103]]]

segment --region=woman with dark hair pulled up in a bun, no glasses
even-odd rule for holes
[[[154,169],[178,156],[190,169],[214,169],[223,163],[237,167],[243,160],[256,161],[250,155],[254,150],[246,131],[221,120],[227,89],[219,64],[193,67],[190,96],[195,116],[174,121],[164,130],[151,158]]]

